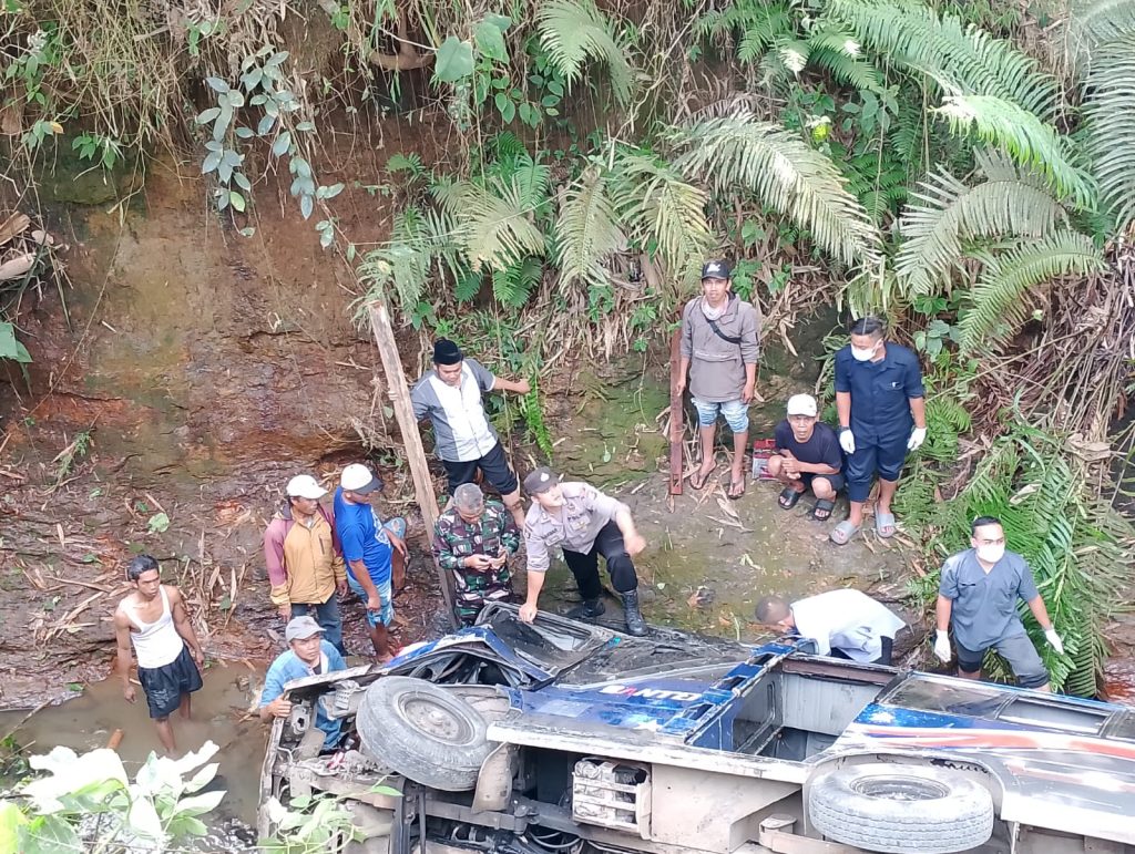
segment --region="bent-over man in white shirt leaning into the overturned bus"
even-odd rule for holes
[[[850,587],[800,599],[757,602],[757,623],[816,642],[816,654],[890,665],[894,635],[906,623],[866,593]]]

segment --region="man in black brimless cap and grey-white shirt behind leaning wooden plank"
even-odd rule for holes
[[[520,484],[481,405],[481,392],[494,390],[527,395],[531,386],[528,380],[510,382],[494,377],[477,360],[465,358],[456,344],[440,338],[434,344],[434,370],[414,383],[410,399],[419,421],[428,415],[434,422],[434,442],[449,479],[449,492],[472,483],[480,468],[520,527],[524,524]]]

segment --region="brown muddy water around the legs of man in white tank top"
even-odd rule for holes
[[[244,665],[213,663],[204,674],[204,686],[193,694],[191,719],[183,720],[178,715],[173,718],[179,752],[196,750],[210,739],[220,745],[220,769],[213,786],[227,794],[210,817],[212,827],[232,820],[255,826],[267,729],[259,718],[250,719],[245,712],[258,699],[254,692],[261,683],[262,674]],[[132,705],[123,699],[121,682],[116,678],[87,685],[81,696],[20,722],[25,715],[0,712],[0,734],[15,727],[15,741],[30,754],[47,753],[56,745],[77,753],[104,747],[115,729],[121,729],[125,735],[118,754],[126,772],[133,776],[151,751],[161,751],[141,688]]]

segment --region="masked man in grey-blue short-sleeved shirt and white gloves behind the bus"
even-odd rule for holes
[[[1028,604],[1058,654],[1063,654],[1063,643],[1052,627],[1028,564],[1020,555],[1006,551],[1004,529],[993,516],[974,519],[969,542],[972,549],[949,557],[942,566],[934,654],[943,662],[950,660],[948,628],[952,624],[959,676],[981,678],[985,653],[995,649],[1023,688],[1049,691],[1049,674],[1017,616],[1017,600]]]

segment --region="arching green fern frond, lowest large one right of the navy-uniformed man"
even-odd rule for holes
[[[998,255],[978,254],[984,263],[959,323],[962,350],[995,347],[1029,318],[1031,291],[1058,276],[1101,272],[1103,255],[1078,231],[1056,231]]]

